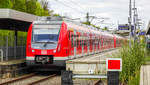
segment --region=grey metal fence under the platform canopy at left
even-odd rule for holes
[[[0,36],[0,61],[24,59],[26,53],[25,43],[25,37],[18,37],[16,41],[14,37]]]

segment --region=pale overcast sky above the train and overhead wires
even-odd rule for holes
[[[90,16],[110,18],[103,22],[106,24],[93,20],[92,23],[96,25],[117,27],[118,23],[128,23],[129,0],[49,0],[49,3],[55,13],[81,18],[82,21],[85,20],[87,12]],[[145,27],[150,19],[149,4],[150,0],[136,0],[139,18],[145,22]]]

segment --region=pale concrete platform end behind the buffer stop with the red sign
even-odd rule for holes
[[[84,77],[90,77],[88,75],[94,75],[95,77],[99,77],[96,75],[104,75],[101,77],[105,77],[107,74],[106,58],[118,57],[118,53],[119,49],[112,49],[95,55],[68,60],[66,61],[66,70]]]

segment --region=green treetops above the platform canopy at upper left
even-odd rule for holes
[[[0,8],[10,8],[38,16],[50,16],[53,11],[48,9],[48,0],[0,0]]]

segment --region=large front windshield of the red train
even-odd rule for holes
[[[60,25],[34,25],[33,42],[57,42]]]

